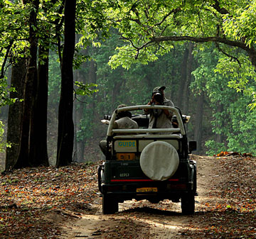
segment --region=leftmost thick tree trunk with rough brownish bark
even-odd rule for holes
[[[16,65],[11,67],[11,86],[16,91],[10,93],[11,99],[23,99],[23,87],[26,77],[26,60],[21,58]],[[18,160],[18,151],[21,137],[21,117],[23,112],[23,102],[16,101],[9,106],[7,142],[11,143],[11,148],[6,148],[6,170],[14,167]]]

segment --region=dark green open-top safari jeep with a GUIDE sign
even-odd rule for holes
[[[147,128],[148,116],[133,116],[137,129],[113,129],[117,113],[142,109],[168,109],[178,128]],[[147,199],[181,200],[181,211],[195,211],[196,162],[188,153],[196,142],[188,143],[187,117],[171,106],[127,106],[114,110],[107,130],[107,154],[98,167],[98,186],[104,214],[118,211],[118,203]],[[177,126],[176,126],[177,127]]]

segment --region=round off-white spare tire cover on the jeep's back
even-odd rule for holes
[[[174,146],[163,141],[146,145],[139,160],[144,174],[155,181],[164,181],[173,176],[178,162],[178,152]]]

